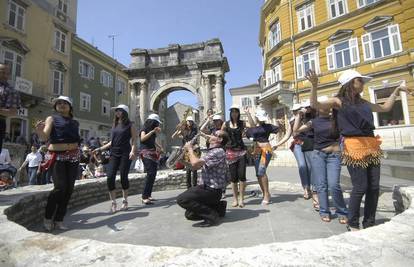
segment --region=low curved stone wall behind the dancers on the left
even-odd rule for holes
[[[129,174],[130,188],[128,193],[131,195],[142,193],[145,183],[144,173]],[[171,171],[160,172],[154,183],[154,191],[171,190],[185,188],[185,172]],[[53,185],[24,186],[17,190],[5,191],[0,198],[10,196],[9,201],[12,205],[4,210],[7,218],[22,226],[30,227],[39,223],[43,218],[47,196],[52,190]],[[121,183],[116,180],[116,188],[121,188]],[[19,192],[16,194],[16,192]],[[117,190],[121,196],[121,190]],[[87,179],[76,181],[76,185],[69,202],[68,209],[75,209],[108,200],[108,188],[106,178]]]

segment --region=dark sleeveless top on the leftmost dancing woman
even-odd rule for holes
[[[50,133],[51,144],[79,143],[79,122],[60,114],[52,115],[53,127]]]

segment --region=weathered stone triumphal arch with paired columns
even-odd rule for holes
[[[126,71],[133,121],[143,125],[150,112],[158,113],[163,120],[166,96],[176,90],[193,93],[202,115],[209,108],[224,114],[224,78],[229,65],[219,39],[171,44],[158,49],[133,49],[131,57]]]

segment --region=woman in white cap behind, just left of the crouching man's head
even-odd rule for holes
[[[183,145],[185,143],[191,141],[198,133],[197,125],[194,122],[192,116],[188,116],[186,118],[186,123],[181,127],[181,129],[175,131],[175,133],[171,136],[171,138],[179,137],[182,139]],[[199,148],[195,148],[194,152],[196,155],[200,156]],[[186,162],[189,161],[188,153],[184,155],[184,159]],[[197,185],[197,170],[193,170],[192,167],[187,167],[186,169],[186,177],[187,177],[187,188],[191,186]]]

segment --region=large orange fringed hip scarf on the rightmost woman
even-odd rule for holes
[[[367,168],[381,163],[381,140],[375,137],[356,136],[344,138],[342,162],[347,166]]]

